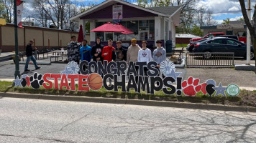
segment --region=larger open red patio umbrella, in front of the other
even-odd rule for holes
[[[91,31],[95,31],[95,32],[100,32],[100,31],[104,31],[104,32],[124,32],[124,30],[119,29],[118,27],[114,26],[114,24],[111,24],[111,22],[103,24],[103,25],[101,25],[101,26],[99,26],[96,29],[93,29]]]

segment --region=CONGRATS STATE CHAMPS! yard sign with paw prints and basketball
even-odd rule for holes
[[[137,71],[135,66],[139,66]],[[145,68],[147,67],[147,76],[145,76]],[[198,92],[209,94],[210,97],[222,95],[237,96],[239,87],[236,84],[229,84],[228,87],[216,87],[216,82],[209,79],[204,83],[200,83],[200,79],[188,77],[183,80],[180,77],[180,72],[175,72],[175,66],[172,61],[166,60],[161,63],[160,70],[157,69],[155,61],[134,63],[129,61],[111,61],[101,63],[101,61],[81,61],[78,65],[75,61],[70,61],[63,71],[59,74],[46,73],[44,75],[34,73],[32,76],[22,75],[22,79],[14,80],[15,87],[32,87],[39,89],[65,89],[71,91],[89,91],[99,90],[104,87],[106,90],[118,92],[121,87],[122,92],[130,92],[134,89],[135,92],[147,92],[154,94],[156,91],[161,91],[166,95],[182,93],[186,96],[196,96]],[[79,74],[80,72],[80,74]],[[165,78],[159,76],[160,72],[165,75]],[[121,79],[121,80],[119,80]],[[127,81],[126,81],[127,79]],[[109,82],[111,81],[111,82]],[[77,87],[76,87],[77,85]]]

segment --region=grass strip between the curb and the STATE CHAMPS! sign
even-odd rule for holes
[[[76,85],[77,89],[77,85]],[[137,93],[134,89],[129,92],[122,92],[121,87],[118,92],[107,91],[102,87],[98,91],[89,92],[78,92],[70,91],[65,88],[59,89],[32,89],[31,87],[13,87],[12,82],[1,82],[0,81],[0,92],[18,92],[28,94],[52,94],[52,95],[69,95],[69,96],[85,96],[85,97],[104,97],[104,98],[121,98],[121,99],[144,99],[144,100],[164,100],[168,102],[191,102],[191,103],[204,103],[204,104],[228,104],[228,105],[239,105],[239,106],[252,106],[256,107],[254,103],[256,98],[256,91],[248,92],[241,90],[238,97],[222,97],[218,95],[216,97],[210,97],[208,94],[204,95],[202,92],[198,92],[195,97],[188,97],[182,94],[181,96],[166,95],[163,91],[155,92],[155,94],[147,94],[147,92]]]

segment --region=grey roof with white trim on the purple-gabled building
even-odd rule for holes
[[[157,14],[157,15],[160,15],[160,16],[168,16],[168,17],[173,16],[173,14],[175,14],[176,12],[178,12],[181,9],[181,6],[165,6],[165,7],[145,8],[145,7],[142,7],[142,6],[131,4],[131,3],[127,2],[127,1],[122,1],[122,0],[106,0],[106,1],[102,2],[101,4],[93,6],[91,9],[83,11],[81,14],[77,14],[76,16],[71,17],[70,20],[79,19],[80,17],[83,17],[86,14],[93,13],[94,11],[96,11],[96,9],[100,9],[100,8],[102,9],[102,8],[104,8],[106,6],[110,6],[110,5],[116,4],[116,3],[126,4],[126,5],[132,6],[134,8],[150,12],[152,14]]]

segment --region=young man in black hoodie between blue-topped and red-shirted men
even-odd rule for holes
[[[101,45],[101,38],[97,37],[96,44],[91,49],[91,56],[93,56],[93,61],[101,61],[103,63],[103,57],[101,56],[103,48],[104,46]]]

